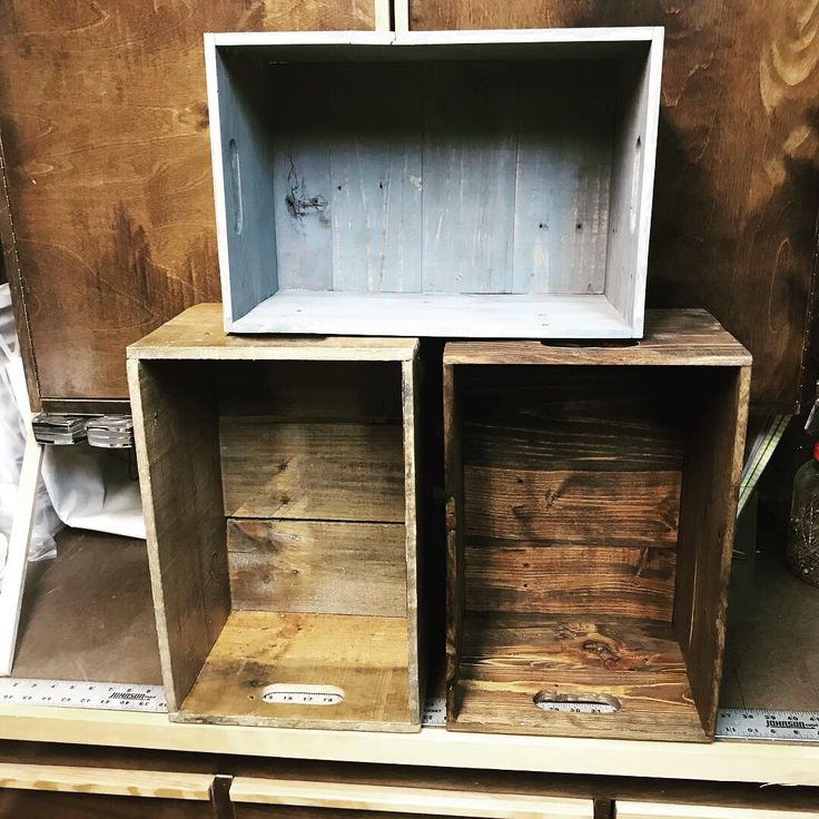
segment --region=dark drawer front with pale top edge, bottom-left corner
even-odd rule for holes
[[[0,819],[209,819],[204,773],[0,763]]]

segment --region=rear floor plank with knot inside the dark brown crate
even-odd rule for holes
[[[474,679],[517,679],[537,670],[685,673],[685,660],[668,624],[629,618],[471,613],[462,658]]]

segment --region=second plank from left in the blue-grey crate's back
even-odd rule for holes
[[[388,68],[388,70],[387,70]],[[323,67],[325,88],[327,67]],[[421,292],[422,98],[418,67],[335,65],[327,117],[333,284]],[[325,106],[327,99],[325,97]],[[310,289],[298,284],[297,289]]]

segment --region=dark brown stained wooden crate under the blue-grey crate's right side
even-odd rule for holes
[[[647,322],[446,345],[451,729],[713,736],[751,361],[704,310]]]

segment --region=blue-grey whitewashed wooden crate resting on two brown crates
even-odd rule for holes
[[[662,43],[206,36],[226,329],[642,335]]]

